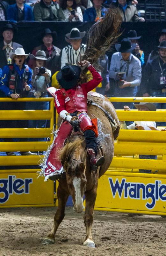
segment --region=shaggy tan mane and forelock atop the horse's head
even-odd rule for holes
[[[67,162],[70,166],[71,173],[77,172],[81,162],[86,161],[85,139],[83,136],[73,135],[70,136],[65,146],[61,149],[60,160],[62,166]]]

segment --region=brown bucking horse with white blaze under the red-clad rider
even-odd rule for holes
[[[117,123],[117,128],[112,132],[112,125],[103,110],[97,106],[88,104],[88,114],[90,118],[98,118],[100,120],[100,146],[98,147],[97,158],[104,156],[105,163],[101,167],[98,167],[96,172],[90,171],[89,157],[85,150],[85,140],[83,136],[78,133],[73,133],[70,136],[60,153],[61,163],[66,171],[66,178],[59,180],[57,189],[58,208],[54,216],[54,226],[50,234],[43,240],[44,244],[54,243],[57,228],[65,216],[65,205],[69,195],[72,196],[74,210],[76,212],[83,211],[83,196],[85,195],[86,207],[84,223],[86,227],[86,238],[83,244],[95,248],[91,228],[93,209],[97,196],[98,178],[107,171],[112,162],[114,155],[114,139],[116,139],[119,134],[120,123],[115,109],[108,99],[96,92],[89,92],[88,99],[109,111],[112,118]]]

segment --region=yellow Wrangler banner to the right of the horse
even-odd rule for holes
[[[166,215],[165,175],[108,171],[99,179],[95,210]]]

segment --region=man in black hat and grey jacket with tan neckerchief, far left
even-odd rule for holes
[[[21,44],[12,41],[14,33],[17,32],[17,28],[13,28],[11,24],[6,24],[2,29],[3,41],[0,41],[0,68],[3,68],[7,64],[11,64],[10,52],[14,52],[18,47],[22,48]]]

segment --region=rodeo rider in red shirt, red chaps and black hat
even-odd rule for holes
[[[93,79],[88,83],[78,84],[81,66],[83,68],[88,67],[88,70],[93,76]],[[58,160],[58,152],[59,149],[63,147],[65,139],[71,135],[73,130],[72,126],[77,126],[79,124],[80,129],[84,133],[91,170],[96,171],[98,166],[101,166],[105,160],[103,156],[99,159],[96,158],[97,129],[95,121],[93,122],[93,119],[91,120],[87,113],[87,93],[102,81],[102,77],[87,60],[84,60],[79,63],[79,66],[64,66],[61,71],[57,73],[57,80],[62,88],[55,92],[55,107],[64,122],[57,132],[54,146],[47,157],[45,163],[45,166],[47,167],[43,167],[45,180],[48,178],[56,180],[60,178],[61,173],[63,173],[63,167],[60,160]]]

